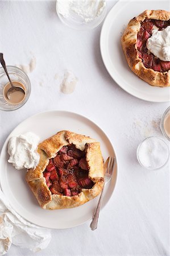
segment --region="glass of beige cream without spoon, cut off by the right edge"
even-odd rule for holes
[[[170,106],[165,110],[161,118],[160,129],[165,138],[170,141]]]

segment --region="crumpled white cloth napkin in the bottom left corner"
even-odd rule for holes
[[[47,247],[50,241],[50,230],[20,217],[0,189],[0,256],[7,253],[11,243],[36,252]]]

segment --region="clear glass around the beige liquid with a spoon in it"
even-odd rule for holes
[[[4,69],[0,68],[0,109],[5,111],[12,111],[19,109],[22,107],[30,97],[31,93],[31,83],[30,79],[28,79],[28,76],[22,69],[14,67],[14,66],[7,66],[7,71],[9,72],[9,76],[11,81],[18,81],[21,82],[24,87],[26,88],[26,96],[24,97],[24,100],[20,102],[19,104],[10,104],[3,98],[3,88],[5,85],[9,82],[6,73]]]

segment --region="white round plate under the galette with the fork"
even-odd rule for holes
[[[32,131],[39,135],[40,141],[42,141],[61,130],[71,130],[75,133],[85,134],[97,139],[101,143],[104,160],[109,155],[115,156],[111,142],[95,123],[82,115],[64,111],[43,112],[20,123],[6,139],[0,156],[1,188],[9,200],[11,207],[26,220],[36,225],[52,229],[72,228],[92,219],[98,197],[80,207],[72,209],[44,210],[40,208],[38,201],[26,183],[26,171],[17,171],[7,162],[9,159],[7,143],[11,136],[26,133],[27,131]],[[117,165],[115,166],[113,179],[106,185],[103,207],[109,201],[114,191],[116,180]]]

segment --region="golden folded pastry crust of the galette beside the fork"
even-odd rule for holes
[[[86,161],[89,166],[89,178],[93,180],[94,185],[90,189],[82,188],[82,191],[75,196],[52,194],[47,187],[43,171],[48,166],[49,159],[54,158],[61,147],[72,143],[81,151],[85,150]],[[101,192],[104,184],[104,171],[99,142],[71,131],[60,131],[40,143],[38,152],[40,154],[39,164],[35,170],[28,170],[26,181],[43,209],[78,207],[92,200]]]

